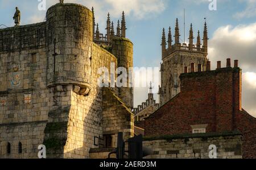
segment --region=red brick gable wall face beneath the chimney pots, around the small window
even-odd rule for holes
[[[232,130],[233,70],[181,74],[181,93],[146,119],[146,136],[191,133],[199,124]]]

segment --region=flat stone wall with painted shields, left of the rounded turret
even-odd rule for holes
[[[37,157],[52,105],[46,87],[45,23],[5,28],[0,34],[0,157]]]

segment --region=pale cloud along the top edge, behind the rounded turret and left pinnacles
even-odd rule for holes
[[[47,8],[54,5],[55,1],[46,1]],[[96,22],[103,24],[105,27],[106,16],[108,12],[114,19],[121,19],[122,11],[125,11],[126,16],[131,16],[133,19],[150,18],[153,15],[160,14],[165,10],[166,0],[66,0],[65,3],[79,3],[88,7],[94,7]],[[38,2],[40,3],[40,2]],[[31,9],[30,9],[31,11]],[[42,13],[39,10],[33,10],[33,17],[26,19],[26,23],[42,22],[46,11]],[[103,26],[101,26],[103,28]]]

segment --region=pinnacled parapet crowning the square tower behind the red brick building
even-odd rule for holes
[[[193,52],[193,53],[203,53],[203,55],[206,57],[208,55],[208,32],[207,32],[207,23],[204,24],[204,38],[203,38],[203,45],[201,44],[201,38],[200,38],[200,31],[197,32],[197,43],[193,44],[193,28],[192,24],[189,30],[189,44],[187,43],[180,43],[180,33],[179,33],[179,22],[176,19],[176,27],[175,27],[175,43],[172,44],[172,33],[171,33],[171,27],[169,27],[168,32],[168,40],[166,41],[166,33],[163,28],[163,34],[162,34],[162,58],[167,57],[171,55],[171,53],[174,53],[175,51],[187,51],[187,52]],[[167,48],[166,45],[168,44]]]

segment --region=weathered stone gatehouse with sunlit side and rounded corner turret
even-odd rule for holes
[[[39,144],[46,145],[47,157],[88,158],[90,148],[99,147],[94,137],[117,131],[133,136],[134,115],[126,107],[133,101],[108,110],[106,93],[126,94],[97,85],[98,68],[110,70],[118,60],[132,67],[133,44],[117,38],[120,50],[127,50],[114,49],[118,57],[93,35],[92,11],[71,3],[50,7],[46,22],[0,30],[1,158],[36,158]]]

